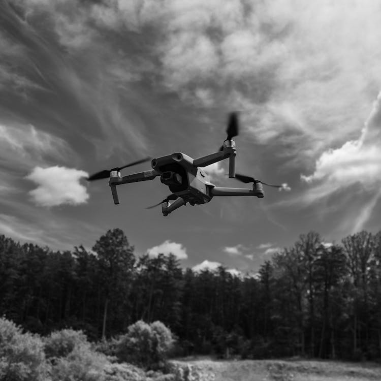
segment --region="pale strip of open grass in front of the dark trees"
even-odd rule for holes
[[[200,381],[376,381],[381,365],[307,360],[213,360],[173,361],[188,364],[200,374]]]

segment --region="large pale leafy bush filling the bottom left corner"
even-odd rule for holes
[[[0,318],[0,379],[42,381],[47,370],[40,337]]]

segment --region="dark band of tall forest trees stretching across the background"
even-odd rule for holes
[[[0,236],[0,314],[31,332],[71,327],[92,340],[161,321],[177,335],[178,355],[381,358],[381,232],[334,245],[309,232],[255,277],[226,270],[136,258],[120,229],[92,251]]]

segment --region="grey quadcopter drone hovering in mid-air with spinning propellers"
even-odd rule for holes
[[[146,157],[123,167],[116,167],[111,170],[103,170],[94,173],[88,177],[87,180],[93,181],[109,178],[109,185],[111,187],[114,204],[119,204],[116,190],[117,185],[153,180],[157,176],[160,176],[160,181],[163,184],[168,185],[172,193],[162,202],[150,206],[147,209],[162,205],[164,216],[167,216],[175,209],[186,205],[187,203],[192,206],[196,204],[206,204],[213,197],[217,196],[256,196],[258,198],[263,198],[264,192],[262,185],[281,188],[281,185],[266,184],[253,177],[235,173],[235,157],[237,149],[233,138],[238,135],[237,113],[233,112],[229,115],[226,131],[228,136],[218,152],[197,159],[193,159],[182,152],[153,158],[152,160],[150,157]],[[225,160],[226,158],[229,158],[229,177],[236,178],[244,183],[252,182],[251,189],[219,187],[210,182],[210,177],[202,168]],[[148,161],[151,161],[151,170],[121,176],[120,171],[122,169]]]

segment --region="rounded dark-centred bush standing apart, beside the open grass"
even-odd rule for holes
[[[140,320],[120,337],[116,356],[119,361],[157,369],[164,365],[173,343],[173,335],[163,323],[154,322],[148,325]]]

